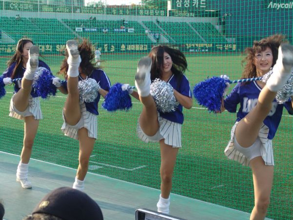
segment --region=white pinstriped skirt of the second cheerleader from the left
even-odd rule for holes
[[[64,135],[69,136],[73,139],[78,140],[78,130],[81,128],[87,129],[87,134],[89,137],[97,139],[97,130],[98,130],[98,120],[97,115],[86,110],[84,102],[80,102],[81,107],[81,119],[76,125],[68,125],[65,122],[64,114],[63,114],[63,125],[61,130]]]

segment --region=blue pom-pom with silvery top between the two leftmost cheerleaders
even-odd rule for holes
[[[37,94],[43,99],[56,95],[57,88],[52,84],[52,78],[54,76],[48,69],[44,67],[38,68],[34,77],[33,88],[36,89]]]

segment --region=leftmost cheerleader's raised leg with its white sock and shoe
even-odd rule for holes
[[[29,58],[26,64],[26,70],[21,80],[21,89],[15,94],[13,103],[19,111],[24,111],[28,107],[28,100],[32,90],[32,84],[35,72],[39,65],[39,47],[33,45],[29,49]]]

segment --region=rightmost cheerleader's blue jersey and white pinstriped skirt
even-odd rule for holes
[[[257,104],[258,96],[261,91],[261,88],[257,85],[255,81],[250,82],[246,85],[241,85],[238,83],[228,97],[224,100],[224,107],[229,112],[236,112],[237,105],[240,103],[240,108],[237,112],[237,119],[235,125],[231,129],[231,139],[228,146],[225,149],[225,155],[232,159],[240,162],[242,165],[249,166],[249,162],[255,156],[262,156],[266,165],[273,166],[273,151],[272,151],[272,139],[278,129],[278,126],[281,121],[283,107],[285,107],[290,114],[293,112],[290,111],[292,105],[291,100],[284,104],[278,104],[276,100],[272,102],[272,110],[269,115],[263,121],[263,126],[259,131],[258,140],[259,148],[254,149],[254,157],[248,158],[247,155],[251,154],[250,147],[242,149],[248,154],[244,155],[239,152],[235,147],[235,138],[234,132],[238,122],[244,118]],[[253,156],[253,155],[252,155]]]

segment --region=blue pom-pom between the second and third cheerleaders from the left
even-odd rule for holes
[[[122,90],[122,84],[114,84],[105,97],[102,107],[107,111],[126,110],[132,107],[131,97],[128,91]]]

